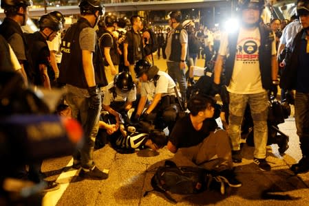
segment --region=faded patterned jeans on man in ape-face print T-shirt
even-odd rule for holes
[[[235,94],[229,93],[229,127],[228,135],[231,138],[232,150],[240,150],[240,135],[242,119],[246,104],[250,105],[251,115],[254,125],[254,157],[258,159],[266,158],[266,144],[268,137],[267,116],[268,116],[268,96],[267,92],[255,94]]]

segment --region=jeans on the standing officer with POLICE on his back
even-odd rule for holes
[[[89,111],[92,109],[89,108],[89,93],[87,89],[77,87],[68,88],[66,100],[72,109],[72,117],[81,123],[84,130],[81,148],[73,154],[74,163],[81,163],[82,168],[92,168],[94,166],[94,141],[98,133],[101,105],[94,111]]]

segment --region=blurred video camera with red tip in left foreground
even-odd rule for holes
[[[72,155],[80,146],[81,125],[53,114],[61,94],[44,95],[41,89],[25,87],[19,73],[0,72],[0,203],[41,205],[41,183],[29,185],[10,176],[26,164]]]

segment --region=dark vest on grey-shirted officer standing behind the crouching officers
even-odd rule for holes
[[[182,45],[180,43],[180,32],[183,30],[181,24],[175,28],[174,34],[171,37],[171,55],[169,56],[169,60],[173,62],[180,62]],[[189,54],[189,47],[187,47],[187,56],[185,57],[187,60]]]

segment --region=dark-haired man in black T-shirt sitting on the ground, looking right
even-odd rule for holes
[[[175,153],[173,161],[180,166],[200,166],[215,172],[231,187],[242,183],[235,179],[231,146],[225,130],[217,130],[213,118],[215,101],[195,95],[189,100],[191,113],[176,122],[167,148]]]

